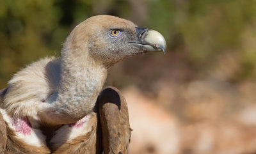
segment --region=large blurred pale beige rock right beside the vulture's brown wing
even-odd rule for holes
[[[127,88],[124,96],[129,107],[131,154],[177,153],[180,146],[179,125],[172,114],[161,110],[154,100],[137,88]]]

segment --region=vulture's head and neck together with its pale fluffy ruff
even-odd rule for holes
[[[60,58],[40,59],[13,76],[1,108],[33,127],[74,123],[92,112],[110,66],[165,49],[157,31],[110,15],[90,17],[67,37]]]

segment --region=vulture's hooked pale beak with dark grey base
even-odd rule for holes
[[[138,42],[134,43],[143,45],[143,47],[147,51],[161,50],[165,54],[166,42],[164,40],[163,35],[161,35],[158,31],[154,31],[152,29],[147,29],[143,27],[135,27],[135,29]]]

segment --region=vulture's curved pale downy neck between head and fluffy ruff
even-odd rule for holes
[[[107,76],[107,69],[81,49],[63,49],[60,63],[60,83],[45,117],[51,125],[74,123],[90,113]]]

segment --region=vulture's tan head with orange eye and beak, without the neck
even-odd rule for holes
[[[129,56],[147,51],[165,52],[165,49],[166,42],[157,31],[137,27],[131,21],[118,17],[97,15],[74,28],[61,54],[90,58],[109,68]]]

